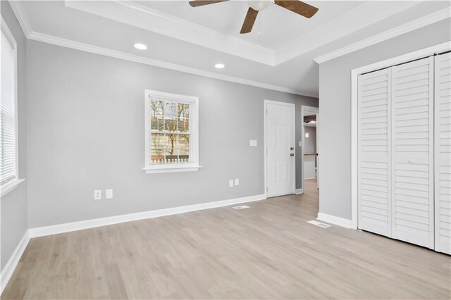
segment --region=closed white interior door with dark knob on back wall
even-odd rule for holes
[[[295,192],[295,105],[266,101],[266,196]]]

